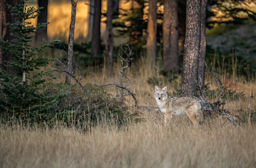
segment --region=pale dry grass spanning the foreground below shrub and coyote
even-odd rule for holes
[[[0,167],[255,167],[255,127],[240,130],[221,120],[194,129],[186,117],[165,127],[155,113],[122,128],[100,125],[90,132],[0,125]]]

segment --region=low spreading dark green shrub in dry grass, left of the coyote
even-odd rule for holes
[[[102,94],[86,97],[81,92],[72,92],[58,102],[59,108],[49,119],[58,119],[67,124],[88,123],[90,126],[99,123],[121,126],[130,121],[138,121],[138,113],[129,113],[124,101]]]

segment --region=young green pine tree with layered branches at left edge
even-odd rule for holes
[[[49,43],[44,41],[36,47],[29,45],[34,38],[32,34],[39,28],[45,28],[48,23],[31,25],[28,20],[35,19],[42,8],[28,8],[26,0],[22,2],[24,3],[14,7],[7,5],[12,12],[11,17],[17,18],[17,22],[7,24],[10,31],[14,32],[10,36],[15,36],[15,39],[12,42],[0,40],[1,51],[14,58],[6,65],[14,74],[0,71],[0,114],[11,112],[16,117],[25,119],[26,115],[32,117],[36,113],[46,113],[56,105],[56,95],[51,96],[49,92],[42,93],[41,90],[42,83],[55,78],[53,70],[35,71],[48,65],[50,59],[34,56],[58,40],[51,40]]]

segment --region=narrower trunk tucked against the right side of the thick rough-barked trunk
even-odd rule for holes
[[[207,0],[202,0],[201,6],[201,40],[198,58],[198,85],[204,89],[204,68],[205,68],[205,54],[206,54],[206,10]]]

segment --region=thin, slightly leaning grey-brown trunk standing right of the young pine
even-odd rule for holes
[[[70,27],[69,27],[69,34],[68,34],[68,69],[67,71],[72,74],[73,69],[73,55],[74,55],[74,30],[75,30],[75,22],[76,22],[76,5],[77,2],[74,2],[74,0],[71,0],[72,4],[72,11],[71,11],[71,21],[70,21]],[[66,74],[66,83],[70,83],[71,76]]]

